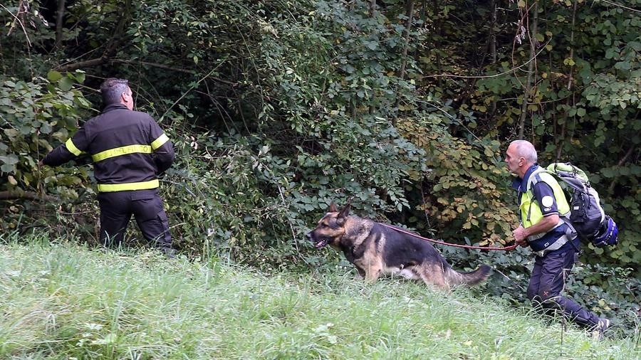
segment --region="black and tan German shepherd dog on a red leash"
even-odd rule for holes
[[[449,290],[456,285],[479,284],[489,276],[488,265],[472,272],[458,272],[427,241],[381,223],[350,216],[349,212],[350,204],[338,211],[332,203],[307,237],[316,248],[330,245],[342,250],[365,280],[374,281],[380,275],[400,275]]]

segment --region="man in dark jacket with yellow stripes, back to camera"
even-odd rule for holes
[[[120,245],[133,214],[145,239],[172,255],[157,176],[172,165],[174,149],[150,115],[133,111],[133,94],[127,83],[116,78],[105,80],[100,85],[105,106],[102,114],[88,120],[41,164],[58,166],[88,154],[98,183],[100,242]]]

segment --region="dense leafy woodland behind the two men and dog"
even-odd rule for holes
[[[451,243],[504,245],[504,166],[588,172],[620,244],[584,246],[573,291],[639,329],[641,1],[89,1],[0,4],[0,228],[95,245],[88,162],[38,167],[127,78],[177,150],[162,178],[194,258],[345,268],[304,234],[331,201]],[[140,239],[132,226],[132,237]],[[494,265],[520,304],[532,255],[439,247]]]

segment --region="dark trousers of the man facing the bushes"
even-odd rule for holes
[[[133,215],[142,235],[160,248],[171,248],[167,213],[158,189],[98,193],[100,243],[118,246]]]

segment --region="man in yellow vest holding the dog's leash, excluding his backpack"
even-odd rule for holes
[[[518,176],[513,187],[518,191],[521,225],[512,233],[516,243],[536,253],[528,285],[528,298],[535,307],[561,311],[575,324],[598,331],[599,337],[610,327],[609,319],[581,307],[561,295],[579,251],[580,242],[564,218],[570,205],[558,181],[538,165],[531,142],[511,142],[505,162]]]

